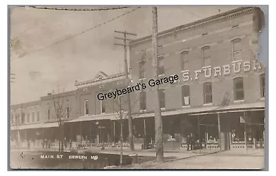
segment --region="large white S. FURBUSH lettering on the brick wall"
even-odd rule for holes
[[[253,61],[232,61],[231,64],[224,65],[224,66],[215,66],[212,68],[212,66],[206,66],[202,67],[200,70],[195,70],[195,76],[190,77],[190,70],[185,70],[182,72],[183,81],[189,81],[189,80],[197,80],[199,79],[200,74],[204,74],[206,78],[208,77],[219,77],[219,76],[226,76],[230,75],[231,72],[233,73],[239,73],[242,70],[244,72],[249,72],[250,70],[261,70],[262,66],[261,63],[257,60]]]

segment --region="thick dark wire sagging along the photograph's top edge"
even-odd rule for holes
[[[42,10],[66,10],[66,11],[103,11],[103,10],[119,10],[130,7],[118,7],[118,8],[51,8],[51,7],[38,7],[38,6],[20,6],[20,7],[29,7],[29,8],[37,8]]]

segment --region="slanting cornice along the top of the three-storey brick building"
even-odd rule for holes
[[[200,19],[198,21],[193,21],[191,23],[186,23],[184,25],[177,26],[175,28],[171,28],[169,30],[164,30],[162,32],[158,32],[157,36],[158,36],[158,38],[162,38],[162,37],[167,37],[169,35],[175,34],[175,32],[179,33],[179,32],[184,32],[187,30],[194,30],[195,28],[199,28],[199,27],[202,28],[202,26],[206,26],[210,23],[216,23],[217,21],[225,21],[225,20],[243,16],[244,14],[250,14],[250,13],[254,12],[255,10],[257,10],[257,7],[236,8],[234,10],[229,10],[227,12],[215,14],[211,17],[207,17],[204,19]],[[129,45],[130,45],[130,47],[137,46],[140,43],[144,43],[146,41],[151,41],[151,39],[152,39],[152,35],[148,35],[146,37],[142,37],[140,39],[135,39],[135,40],[130,41]]]

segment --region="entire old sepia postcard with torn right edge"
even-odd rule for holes
[[[8,6],[8,168],[264,170],[263,8]]]

